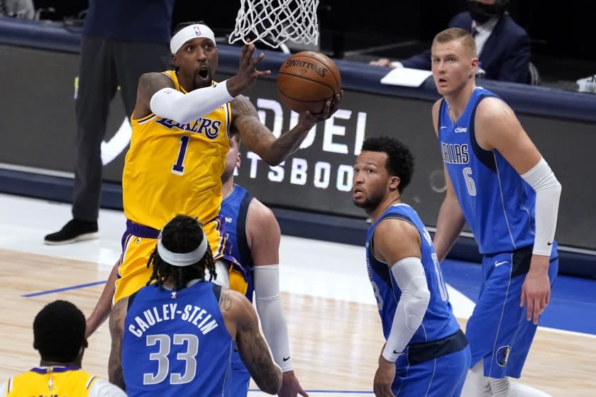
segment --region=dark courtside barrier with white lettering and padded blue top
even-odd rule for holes
[[[0,18],[0,75],[4,114],[0,118],[0,191],[70,201],[74,164],[79,30],[61,24]],[[238,68],[239,47],[219,45],[219,80]],[[279,134],[297,114],[277,97],[275,76],[287,57],[265,52],[261,69],[271,69],[247,93],[261,120]],[[426,225],[436,225],[443,199],[441,156],[431,125],[438,99],[432,79],[419,88],[387,86],[387,69],[336,61],[346,91],[333,118],[311,131],[302,150],[278,167],[243,151],[237,181],[274,208],[286,234],[362,244],[365,215],[351,203],[355,156],[365,136],[393,135],[416,156],[412,184],[404,201]],[[596,276],[596,95],[502,82],[479,81],[516,111],[522,125],[563,185],[557,240],[561,272]],[[102,156],[102,205],[121,208],[121,169],[130,127],[121,100],[114,101]],[[176,154],[172,154],[175,157]],[[167,164],[165,164],[167,166]],[[473,240],[462,238],[452,256],[478,259]]]

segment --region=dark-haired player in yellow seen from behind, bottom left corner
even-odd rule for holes
[[[126,397],[120,388],[82,371],[87,347],[85,316],[67,301],[45,306],[33,320],[39,367],[0,384],[0,396]]]

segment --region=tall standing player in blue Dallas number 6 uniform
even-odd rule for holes
[[[512,108],[476,86],[475,54],[474,39],[458,28],[438,33],[431,48],[443,96],[433,106],[433,123],[447,183],[434,243],[441,261],[467,222],[484,255],[480,296],[466,328],[469,395],[545,396],[507,376],[521,375],[551,296],[561,184]]]

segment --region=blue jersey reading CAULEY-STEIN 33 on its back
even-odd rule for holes
[[[129,298],[122,341],[128,396],[231,395],[233,340],[219,291],[198,281],[180,291],[145,286]]]

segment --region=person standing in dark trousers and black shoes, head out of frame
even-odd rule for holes
[[[0,0],[1,1],[1,0]],[[77,121],[72,220],[45,236],[61,245],[99,237],[101,142],[109,106],[120,86],[130,117],[140,76],[161,72],[170,63],[170,26],[175,0],[89,0],[84,19]]]

